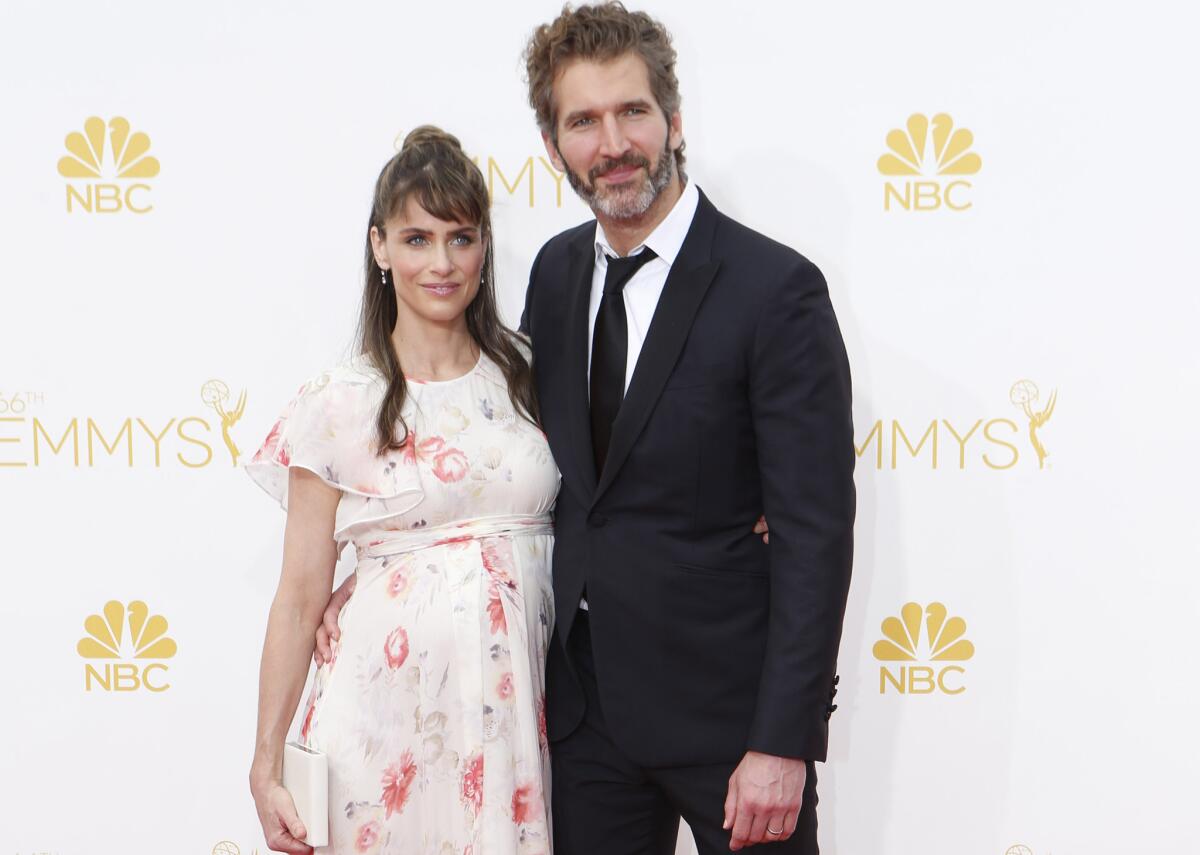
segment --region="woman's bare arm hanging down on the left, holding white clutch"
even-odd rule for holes
[[[295,807],[282,785],[283,742],[308,675],[313,633],[329,600],[337,563],[334,515],[341,491],[308,470],[288,473],[283,569],[271,603],[258,674],[258,733],[250,788],[268,845],[308,853]]]

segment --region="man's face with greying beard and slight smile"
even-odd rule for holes
[[[678,113],[667,122],[642,58],[574,60],[554,79],[553,97],[558,140],[544,133],[542,142],[575,192],[612,220],[644,215],[676,180],[683,124]]]

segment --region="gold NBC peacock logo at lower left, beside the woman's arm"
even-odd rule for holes
[[[109,600],[98,615],[89,615],[76,650],[88,662],[84,665],[84,688],[92,692],[166,692],[170,683],[163,680],[167,665],[148,662],[174,658],[178,646],[167,635],[167,618],[151,615],[139,599],[128,605]],[[133,659],[134,662],[130,662]],[[116,660],[116,662],[113,662]],[[101,662],[103,670],[100,670]]]

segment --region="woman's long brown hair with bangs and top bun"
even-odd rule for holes
[[[408,425],[401,417],[408,389],[391,341],[396,327],[396,292],[391,277],[385,281],[376,263],[371,228],[374,227],[379,229],[379,234],[385,235],[384,222],[403,210],[409,198],[415,198],[421,208],[439,220],[478,226],[487,241],[479,293],[467,306],[467,329],[479,349],[504,372],[514,409],[538,424],[533,372],[517,345],[522,339],[500,323],[496,305],[496,252],[487,184],[456,137],[432,125],[422,125],[404,137],[400,151],[379,173],[371,204],[371,221],[367,223],[366,277],[358,345],[359,352],[388,381],[388,390],[376,419],[378,453],[401,448],[408,441]],[[397,425],[401,431],[398,436]]]

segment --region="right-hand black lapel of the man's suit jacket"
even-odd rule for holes
[[[662,394],[671,371],[674,369],[684,342],[688,341],[688,333],[691,330],[696,311],[700,309],[708,286],[712,285],[720,261],[712,259],[713,232],[716,228],[716,209],[713,203],[701,193],[700,204],[696,207],[696,215],[692,217],[691,228],[679,249],[674,264],[667,274],[666,285],[662,287],[662,295],[659,297],[659,305],[654,310],[654,318],[650,328],[646,333],[646,341],[642,352],[637,357],[637,366],[629,382],[629,390],[625,400],[617,413],[617,420],[612,425],[612,442],[608,446],[608,456],[605,459],[604,471],[600,473],[600,482],[596,485],[594,497],[589,506],[594,506],[608,485],[616,479],[617,473],[624,465],[625,459],[634,448],[634,442],[646,426],[654,405]],[[590,268],[589,268],[590,270]],[[584,307],[583,341],[587,342],[587,309]],[[587,353],[584,352],[584,372],[587,370]],[[586,373],[584,373],[586,378]],[[584,400],[584,405],[587,401]],[[583,408],[583,424],[587,427],[590,423],[587,418],[587,407]],[[590,436],[590,431],[588,434]],[[587,446],[592,452],[592,443]],[[594,466],[593,466],[594,468]]]

